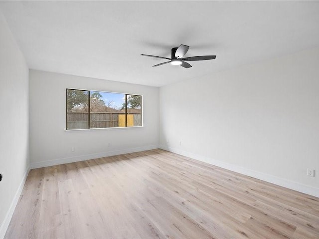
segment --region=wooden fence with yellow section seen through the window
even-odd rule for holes
[[[127,126],[141,126],[141,114],[127,114]],[[90,128],[125,127],[125,113],[92,112]],[[67,112],[67,129],[89,128],[88,112]]]

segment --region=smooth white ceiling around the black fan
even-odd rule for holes
[[[0,1],[29,68],[163,86],[319,45],[319,1]],[[217,55],[166,64],[140,54]]]

